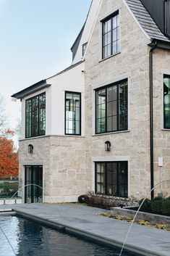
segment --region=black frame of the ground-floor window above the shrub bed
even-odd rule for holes
[[[97,182],[97,174],[98,174],[98,171],[97,171],[97,165],[98,164],[102,164],[104,165],[104,172],[103,172],[103,190],[104,190],[104,193],[99,193],[97,192],[97,185],[100,184],[100,182]],[[107,168],[107,165],[109,164],[115,164],[116,165],[116,194],[109,194],[108,193],[108,168]],[[120,194],[120,184],[119,184],[119,165],[121,164],[124,164],[126,170],[125,170],[125,175],[127,176],[126,178],[126,187],[124,190],[127,191],[127,194],[124,194],[124,196],[122,196]],[[99,173],[100,174],[100,173]],[[110,183],[111,184],[111,183]],[[111,184],[113,185],[113,184]],[[111,196],[111,197],[124,197],[124,198],[127,198],[128,197],[128,161],[108,161],[108,162],[95,162],[95,194],[104,194],[104,195],[107,195],[107,196]]]

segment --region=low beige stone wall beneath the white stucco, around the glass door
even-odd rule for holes
[[[28,144],[33,144],[33,154],[25,154]],[[25,165],[43,165],[44,202],[76,202],[87,190],[83,137],[44,136],[22,140],[20,187],[25,186]]]

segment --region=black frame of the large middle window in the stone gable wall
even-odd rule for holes
[[[127,83],[127,127],[126,128],[124,128],[124,129],[122,129],[122,128],[120,128],[119,127],[119,85],[120,84],[123,84],[123,83]],[[117,92],[116,92],[116,94],[117,94],[117,96],[116,96],[116,126],[117,126],[117,128],[115,129],[115,130],[111,130],[111,131],[108,131],[108,128],[107,128],[107,118],[108,118],[108,116],[107,116],[107,111],[108,111],[108,109],[107,109],[107,103],[109,103],[109,102],[107,102],[107,97],[108,97],[108,95],[107,95],[107,89],[108,88],[111,88],[111,87],[114,87],[114,86],[116,86],[117,87]],[[105,131],[101,131],[101,132],[98,132],[98,120],[100,119],[100,118],[97,118],[97,93],[98,93],[98,91],[101,91],[101,90],[106,90],[106,102],[105,102],[105,110],[106,110],[106,115],[105,115]],[[126,78],[126,79],[123,79],[123,80],[119,80],[119,81],[117,81],[117,82],[115,82],[115,83],[111,83],[111,84],[109,84],[109,85],[106,85],[106,86],[102,86],[102,87],[100,87],[100,88],[96,88],[95,89],[95,134],[101,134],[101,133],[112,133],[112,132],[116,132],[116,131],[127,131],[128,130],[128,79]],[[113,115],[112,115],[113,116]],[[102,119],[102,118],[101,118]]]

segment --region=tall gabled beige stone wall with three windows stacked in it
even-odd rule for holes
[[[113,4],[114,2],[114,4]],[[114,7],[114,8],[113,8]],[[120,53],[101,60],[101,20],[119,9]],[[87,166],[91,171],[95,160],[128,160],[129,197],[142,198],[150,191],[150,73],[149,41],[130,14],[124,1],[103,0],[101,12],[90,38],[85,58],[85,134],[88,139]],[[154,52],[154,183],[169,178],[169,131],[162,131],[162,89],[161,70],[170,67],[169,51]],[[127,132],[94,134],[94,88],[128,79],[129,125]],[[111,141],[111,152],[104,151],[104,142]],[[158,157],[163,157],[163,167],[158,168]],[[89,173],[90,177],[90,173]],[[89,181],[91,183],[91,181]],[[156,190],[170,195],[169,184]],[[92,185],[93,188],[93,185]]]

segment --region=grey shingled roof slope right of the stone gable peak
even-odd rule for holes
[[[170,43],[170,39],[161,33],[161,30],[156,25],[156,22],[150,17],[150,14],[145,9],[140,0],[125,0],[133,15],[140,23],[145,33],[148,34],[150,39],[158,39]]]

